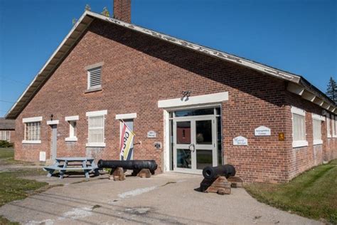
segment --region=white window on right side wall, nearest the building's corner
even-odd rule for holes
[[[306,112],[300,108],[291,107],[292,115],[292,147],[308,146],[306,141]]]

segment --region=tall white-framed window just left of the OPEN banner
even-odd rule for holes
[[[105,115],[107,110],[87,112],[87,147],[105,147]]]

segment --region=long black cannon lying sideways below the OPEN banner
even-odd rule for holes
[[[97,163],[99,168],[110,168],[114,172],[117,167],[122,167],[124,170],[132,169],[132,176],[137,176],[141,169],[149,169],[151,174],[157,169],[158,165],[154,160],[103,160],[100,159]]]

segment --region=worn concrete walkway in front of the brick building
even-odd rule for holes
[[[257,202],[245,189],[224,196],[196,192],[197,175],[127,177],[123,182],[106,174],[89,182],[32,178],[64,186],[6,204],[1,215],[21,224],[320,224]]]

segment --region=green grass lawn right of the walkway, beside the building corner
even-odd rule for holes
[[[337,159],[286,184],[248,184],[245,189],[260,202],[337,224]]]

